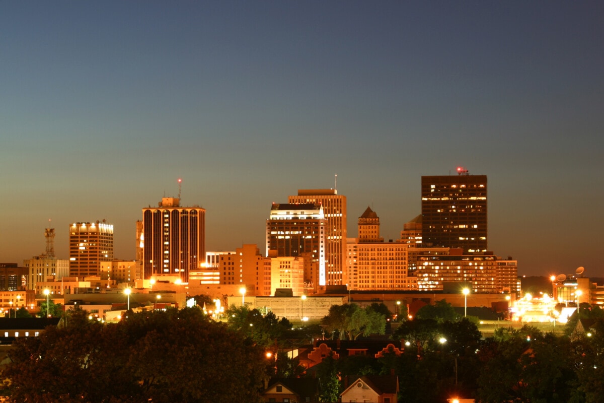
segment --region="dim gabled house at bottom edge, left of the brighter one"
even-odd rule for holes
[[[321,385],[316,378],[273,378],[262,392],[263,402],[318,402]]]

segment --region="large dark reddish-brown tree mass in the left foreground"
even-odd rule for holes
[[[14,402],[258,402],[264,353],[198,308],[141,312],[117,324],[73,309],[63,327],[19,339],[4,376]]]

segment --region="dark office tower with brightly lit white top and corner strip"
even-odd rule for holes
[[[304,282],[315,292],[326,285],[326,225],[316,203],[274,203],[266,220],[266,256],[303,257]]]

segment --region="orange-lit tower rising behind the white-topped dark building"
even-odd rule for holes
[[[346,196],[335,189],[299,189],[297,196],[289,196],[290,203],[318,203],[323,206],[326,224],[324,285],[346,283]],[[320,284],[323,286],[323,284]]]

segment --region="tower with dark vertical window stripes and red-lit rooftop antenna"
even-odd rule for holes
[[[143,249],[143,276],[179,276],[188,282],[189,271],[205,262],[205,209],[181,207],[178,198],[162,198],[158,207],[143,208],[138,240]]]

